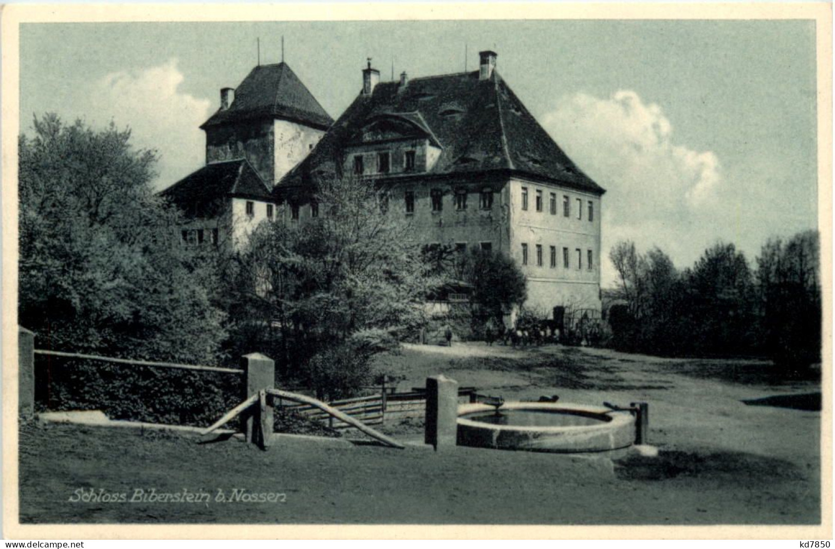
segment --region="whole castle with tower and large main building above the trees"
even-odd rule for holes
[[[519,101],[496,69],[497,54],[479,55],[478,71],[402,73],[392,82],[381,82],[369,60],[362,90],[335,123],[285,63],[256,68],[234,101],[221,90],[220,110],[202,126],[205,168],[164,194],[217,187],[233,202],[265,212],[272,205],[267,218],[305,224],[319,215],[311,199],[319,181],[367,179],[387,190],[389,214],[425,244],[514,257],[528,280],[526,307],[599,314],[605,189]],[[258,174],[271,197],[231,176],[207,186],[208,170],[230,163],[240,165],[239,181]],[[238,238],[258,221],[253,214],[235,229],[235,219]]]

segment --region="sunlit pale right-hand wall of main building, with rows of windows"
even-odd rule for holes
[[[528,278],[526,306],[550,312],[556,305],[600,310],[600,196],[564,189],[551,184],[534,184],[512,179],[509,189],[510,253]],[[528,189],[528,208],[523,209],[523,189]],[[537,191],[542,193],[542,209],[537,211]],[[551,213],[550,194],[557,200]],[[564,215],[563,199],[568,197],[569,215]],[[578,215],[578,202],[581,206]],[[589,203],[593,218],[589,220]],[[523,245],[528,246],[524,264]],[[537,245],[542,246],[542,265],[537,261]],[[556,248],[556,266],[550,262],[550,247]],[[563,249],[568,249],[569,267],[564,266]],[[577,250],[580,250],[578,261]],[[592,264],[588,256],[591,250]]]

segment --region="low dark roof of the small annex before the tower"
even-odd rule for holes
[[[215,217],[228,198],[271,200],[270,190],[246,159],[206,164],[159,195],[190,218]]]

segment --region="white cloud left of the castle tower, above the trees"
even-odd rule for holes
[[[162,189],[200,167],[205,141],[199,126],[209,116],[211,102],[180,90],[185,76],[170,59],[156,67],[109,73],[92,84],[95,117],[129,126],[134,146],[157,149]]]

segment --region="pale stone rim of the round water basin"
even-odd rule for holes
[[[635,422],[635,417],[629,411],[613,411],[605,406],[592,406],[584,404],[554,403],[554,402],[524,402],[521,400],[505,402],[501,410],[549,410],[564,411],[567,413],[579,412],[579,416],[607,416],[610,421],[600,420],[600,425],[591,426],[512,426],[496,425],[483,421],[469,420],[466,415],[483,411],[493,411],[495,406],[481,403],[458,405],[458,425],[474,427],[477,429],[490,429],[495,431],[531,431],[539,433],[564,433],[574,431],[609,431],[620,426]]]

